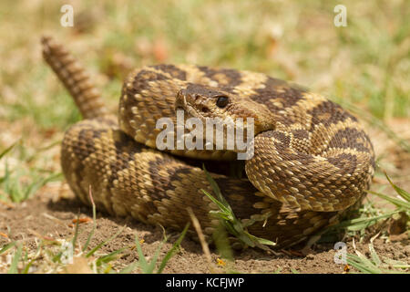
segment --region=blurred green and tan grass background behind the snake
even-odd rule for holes
[[[60,25],[62,5],[74,26]],[[335,5],[347,26],[336,27]],[[117,105],[132,68],[195,63],[292,80],[382,120],[410,116],[410,2],[39,1],[0,3],[0,120],[66,129],[74,103],[41,58],[55,36]],[[1,141],[0,141],[1,142]]]

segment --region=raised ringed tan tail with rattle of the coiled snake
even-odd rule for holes
[[[51,36],[41,38],[43,57],[75,100],[84,119],[108,114],[108,110],[86,69]]]

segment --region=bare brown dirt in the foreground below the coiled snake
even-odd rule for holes
[[[39,237],[53,239],[69,239],[74,235],[72,220],[80,217],[91,217],[87,206],[77,202],[70,192],[58,198],[51,193],[41,192],[34,198],[15,206],[0,204],[0,246],[10,241],[24,242],[27,249],[36,249]],[[141,224],[131,218],[110,217],[97,212],[97,230],[89,246],[94,247],[114,235],[122,226],[127,225],[123,232],[113,241],[104,245],[98,254],[108,254],[119,248],[134,245],[135,236],[142,239],[142,250],[146,256],[154,255],[163,239],[163,231],[159,227]],[[87,241],[87,235],[92,228],[91,223],[80,224],[78,240],[81,245]],[[169,232],[169,242],[163,245],[159,258],[164,256],[178,238],[179,233]],[[354,254],[352,239],[346,240],[348,253]],[[369,255],[367,244],[356,243],[356,248],[364,255]],[[374,241],[374,248],[381,257],[407,262],[410,258],[408,240],[386,243],[385,239]],[[294,250],[280,251],[277,255],[270,255],[257,249],[246,249],[235,252],[235,261],[231,269],[241,273],[343,273],[344,265],[336,265],[333,261],[335,251],[333,245],[313,245],[308,255],[292,255]],[[297,253],[296,253],[297,254]],[[211,265],[203,254],[199,243],[185,238],[178,254],[174,255],[164,273],[210,273],[227,271],[226,266],[218,265],[218,255],[211,250]],[[0,257],[2,260],[2,257]],[[4,258],[3,258],[4,260]],[[120,257],[116,261],[115,269],[128,266],[138,260],[136,250]],[[40,268],[34,272],[44,272]],[[0,267],[1,272],[1,267]],[[4,271],[3,271],[4,272]],[[138,269],[135,270],[138,272]]]

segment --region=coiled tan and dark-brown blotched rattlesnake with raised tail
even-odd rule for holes
[[[233,213],[253,223],[249,233],[287,246],[337,223],[370,186],[369,137],[353,115],[321,95],[261,73],[158,65],[128,75],[117,116],[65,47],[49,36],[42,43],[46,62],[84,118],[62,142],[67,183],[88,205],[91,185],[97,208],[108,214],[181,230],[190,207],[204,234],[212,235],[219,220],[210,215],[217,205],[202,192],[214,194],[200,167],[207,162]],[[175,120],[176,106],[200,119],[254,118],[245,177],[222,171],[235,163],[234,151],[155,149],[156,120]],[[195,237],[194,229],[190,234]]]

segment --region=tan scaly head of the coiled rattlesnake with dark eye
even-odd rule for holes
[[[190,117],[198,118],[203,123],[207,120],[223,120],[233,122],[238,127],[247,130],[247,120],[253,119],[254,134],[275,128],[272,112],[265,105],[249,98],[249,94],[241,89],[217,89],[208,86],[190,84],[186,89],[180,89],[175,101],[175,110],[185,110]],[[236,121],[243,120],[243,124]]]

